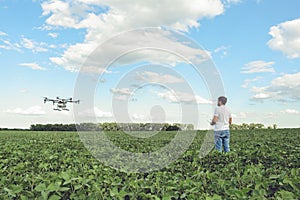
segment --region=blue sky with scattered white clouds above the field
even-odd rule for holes
[[[207,129],[218,93],[234,123],[300,127],[299,7],[298,0],[0,0],[0,127],[91,120]],[[69,112],[44,104],[57,96],[81,103],[68,104]]]

